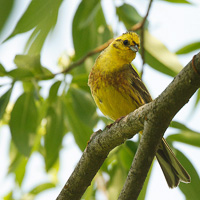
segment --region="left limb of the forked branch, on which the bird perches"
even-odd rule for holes
[[[99,130],[91,136],[80,161],[57,200],[77,200],[81,198],[108,153],[143,129],[143,119],[148,112],[146,106],[148,105],[126,116],[119,123],[113,123],[111,128],[104,131]],[[144,108],[146,108],[146,111]]]

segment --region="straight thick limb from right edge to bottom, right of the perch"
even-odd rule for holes
[[[143,136],[119,200],[137,199],[164,132],[175,114],[200,87],[200,75],[194,71],[200,72],[200,53],[194,58],[193,65],[191,61],[150,105]]]

